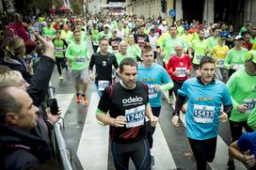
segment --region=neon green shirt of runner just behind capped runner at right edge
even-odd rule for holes
[[[236,70],[235,68],[233,68],[233,65],[237,65],[236,68],[238,67],[243,68],[242,66],[245,64],[245,56],[247,52],[248,50],[243,47],[239,51],[234,50],[234,48],[232,48],[226,56],[224,67],[229,70],[230,69]]]

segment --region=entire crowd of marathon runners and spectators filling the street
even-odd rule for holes
[[[160,16],[3,12],[0,24],[4,169],[57,163],[50,136],[59,116],[45,112],[44,103],[55,64],[60,81],[63,71],[72,71],[77,103],[88,105],[88,83],[95,84],[96,117],[110,125],[116,169],[128,169],[130,158],[136,169],[153,167],[152,134],[165,90],[173,128],[185,114],[199,170],[214,161],[218,124],[226,121],[232,133],[227,169],[235,169],[233,159],[256,169],[256,25],[246,22],[236,31],[227,23],[167,23]]]

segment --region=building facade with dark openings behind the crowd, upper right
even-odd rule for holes
[[[255,0],[167,0],[167,13],[161,11],[161,0],[127,0],[126,12],[129,15],[152,17],[161,15],[168,23],[184,19],[202,23],[226,22],[239,28],[246,21],[256,25]],[[176,16],[170,17],[168,11],[175,9]]]

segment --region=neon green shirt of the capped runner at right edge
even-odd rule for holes
[[[227,86],[232,95],[232,116],[230,119],[235,122],[247,121],[256,105],[256,76],[250,76],[245,69],[238,70],[232,74]],[[237,106],[247,104],[246,113],[240,113]]]

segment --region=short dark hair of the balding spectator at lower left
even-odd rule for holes
[[[22,105],[9,93],[11,85],[0,87],[0,123],[5,123],[5,116],[8,113],[18,114]]]

